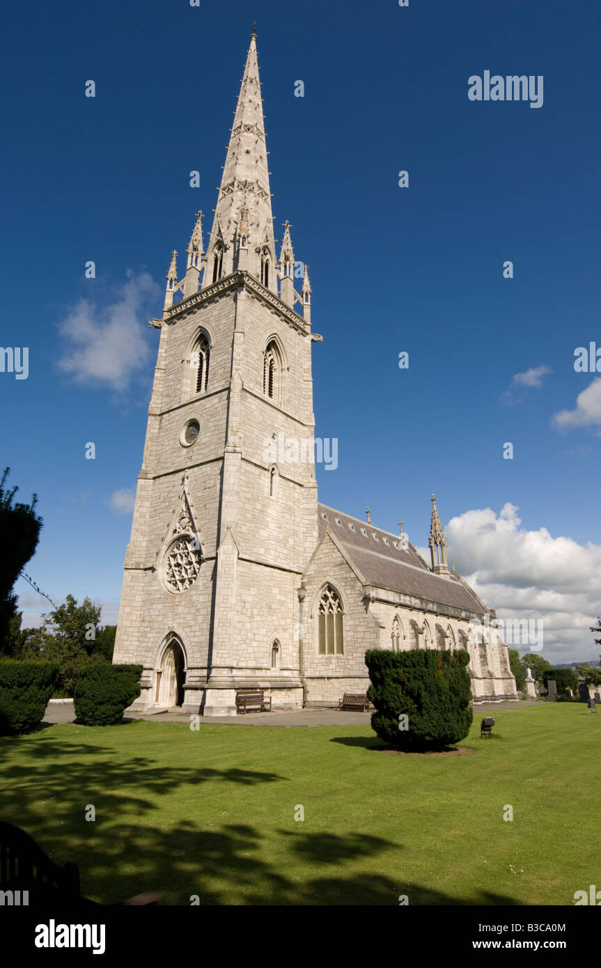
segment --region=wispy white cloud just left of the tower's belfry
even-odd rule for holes
[[[80,299],[59,323],[65,342],[59,366],[77,383],[100,382],[123,390],[148,366],[150,345],[142,319],[160,289],[147,272],[128,276],[114,302],[98,306]]]

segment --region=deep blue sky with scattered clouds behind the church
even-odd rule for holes
[[[320,499],[394,531],[402,517],[424,547],[436,492],[449,557],[488,604],[544,618],[552,661],[595,656],[601,374],[576,373],[574,350],[601,348],[598,7],[129,0],[10,17],[2,345],[29,348],[29,376],[0,373],[0,453],[19,498],[39,495],[38,584],[116,620],[146,323],[198,208],[208,236],[255,19],[276,237],[288,219],[310,265],[316,434],[339,440]],[[486,70],[543,76],[543,106],[470,101]],[[17,590],[32,623],[44,599]]]

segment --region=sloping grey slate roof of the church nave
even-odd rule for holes
[[[327,504],[318,504],[317,508],[319,537],[329,526],[369,585],[484,615],[482,606],[459,578],[435,575],[410,544],[403,551],[398,534],[368,525]]]

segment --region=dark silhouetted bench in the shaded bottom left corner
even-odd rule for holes
[[[61,865],[51,861],[29,833],[6,820],[0,820],[0,891],[4,892],[5,904],[7,892],[11,892],[14,906],[101,906],[81,896],[75,863]],[[147,891],[118,904],[156,904],[164,897],[165,891]]]

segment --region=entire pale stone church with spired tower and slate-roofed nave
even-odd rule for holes
[[[249,685],[273,709],[336,704],[365,692],[375,648],[464,648],[474,703],[517,698],[495,613],[449,572],[434,496],[431,565],[403,530],[317,503],[321,337],[287,222],[276,254],[255,40],[208,244],[198,213],[183,278],[174,252],[151,320],[160,343],[114,661],[143,666],[138,710],[228,715]]]

